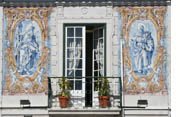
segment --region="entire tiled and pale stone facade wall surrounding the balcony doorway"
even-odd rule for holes
[[[17,102],[20,95],[35,102],[47,97],[47,76],[63,76],[63,25],[105,23],[107,76],[121,76],[123,105],[134,106],[138,99],[147,99],[149,108],[167,109],[170,105],[169,22],[170,7],[1,7],[0,96],[4,97],[0,100],[4,99],[6,105],[12,98]],[[27,35],[23,35],[25,31]],[[17,39],[22,36],[20,49]],[[28,55],[25,52],[18,59],[17,53],[25,50]],[[53,94],[58,93],[58,87],[53,84],[52,90]],[[119,92],[119,86],[113,86],[113,91]],[[19,101],[15,104],[19,106]]]

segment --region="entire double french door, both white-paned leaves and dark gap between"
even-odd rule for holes
[[[104,29],[86,25],[65,27],[65,75],[71,83],[74,106],[98,105],[96,84],[98,78],[105,74]]]

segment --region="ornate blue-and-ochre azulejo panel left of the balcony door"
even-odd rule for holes
[[[3,95],[47,94],[50,8],[5,8]]]

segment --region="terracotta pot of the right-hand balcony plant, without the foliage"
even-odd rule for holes
[[[99,97],[99,106],[102,108],[106,108],[109,106],[109,96],[100,96]]]

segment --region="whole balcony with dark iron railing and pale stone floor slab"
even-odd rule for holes
[[[60,107],[59,94],[62,91],[60,82],[66,79],[70,84],[70,99],[66,108]],[[100,106],[99,95],[106,89],[102,89],[102,79],[106,79],[108,88],[108,106]],[[120,77],[49,77],[49,112],[74,114],[119,114],[121,102],[121,80]],[[103,88],[106,88],[103,87]]]

